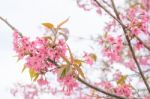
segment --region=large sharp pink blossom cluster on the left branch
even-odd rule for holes
[[[37,37],[35,41],[30,41],[29,38],[21,37],[17,32],[13,35],[14,49],[18,58],[24,58],[25,65],[38,73],[47,72],[48,68],[56,67],[49,60],[58,62],[61,55],[66,54],[67,47],[63,39],[57,40],[54,44],[49,38]]]

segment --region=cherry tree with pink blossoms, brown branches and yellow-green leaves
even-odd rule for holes
[[[42,92],[73,99],[150,99],[150,1],[124,1],[76,0],[83,10],[109,18],[100,35],[91,39],[99,52],[80,56],[67,44],[69,30],[63,25],[69,18],[58,25],[42,23],[47,34],[30,40],[0,17],[13,30],[14,50],[18,60],[24,60],[22,72],[28,70],[33,81],[17,83],[11,93],[25,99]],[[94,82],[86,72],[93,69],[101,74]]]

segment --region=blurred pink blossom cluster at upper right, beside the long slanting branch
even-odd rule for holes
[[[148,13],[141,7],[133,7],[127,10],[127,19],[130,21],[128,27],[133,35],[148,32]]]

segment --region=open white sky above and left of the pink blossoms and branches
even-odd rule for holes
[[[65,25],[70,30],[71,49],[86,49],[88,42],[77,42],[73,37],[89,38],[89,35],[100,33],[103,19],[96,13],[85,12],[78,8],[75,0],[0,0],[0,16],[18,28],[24,35],[41,34],[42,22],[59,23],[70,17]],[[0,21],[0,96],[2,99],[13,99],[9,88],[17,81],[30,82],[26,74],[21,74],[22,65],[16,63],[12,47],[12,31]]]

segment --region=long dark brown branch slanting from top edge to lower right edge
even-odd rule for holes
[[[116,16],[117,16],[117,19],[122,23],[122,21],[121,21],[121,19],[120,19],[120,17],[119,17],[119,13],[117,12],[117,9],[116,9],[116,6],[115,6],[114,1],[111,0],[111,2],[112,2],[112,7],[113,7],[113,9],[114,9],[114,12],[115,12],[115,14],[116,14]],[[137,65],[137,67],[138,67],[139,73],[140,73],[140,75],[141,75],[141,77],[142,77],[142,79],[143,79],[143,81],[144,81],[144,83],[145,83],[145,85],[146,85],[146,88],[147,88],[148,92],[150,93],[150,87],[149,87],[148,82],[147,82],[147,80],[146,80],[146,78],[145,78],[145,76],[144,76],[144,74],[143,74],[143,72],[142,72],[142,69],[141,69],[141,67],[140,67],[139,62],[137,61],[137,58],[136,58],[134,49],[133,49],[133,47],[132,47],[132,45],[131,45],[131,42],[130,42],[130,39],[129,39],[128,35],[127,35],[127,30],[126,30],[126,28],[124,27],[124,25],[122,25],[122,24],[120,24],[120,25],[122,26],[122,29],[123,29],[123,31],[124,31],[126,40],[127,40],[127,42],[128,42],[128,45],[129,45],[129,49],[130,49],[130,51],[131,51],[131,53],[132,53],[132,56],[133,56],[133,59],[134,59],[136,65]]]

